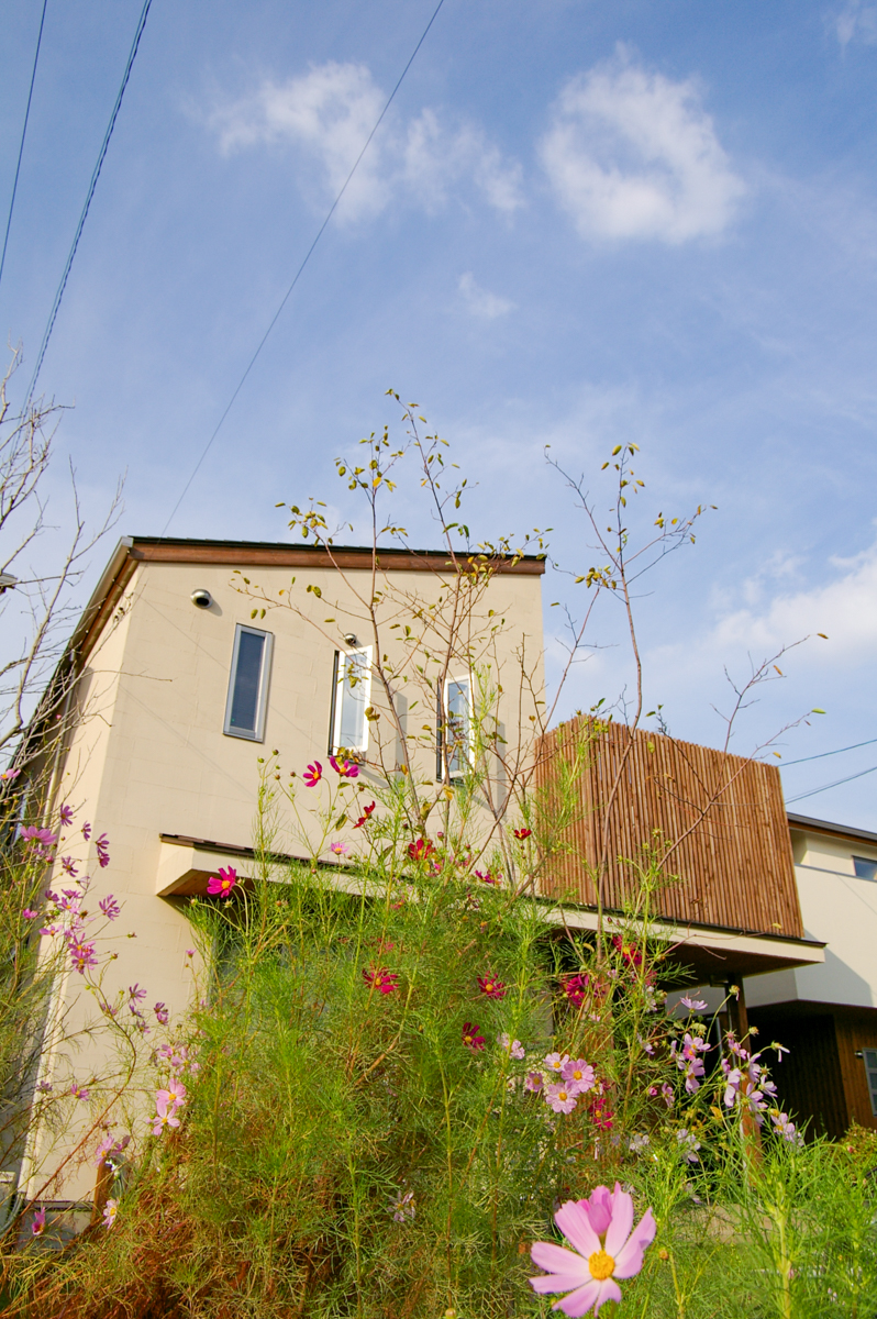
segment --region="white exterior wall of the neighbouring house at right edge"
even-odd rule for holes
[[[804,935],[827,943],[826,960],[746,980],[748,1005],[877,1008],[877,884],[857,878],[852,860],[877,861],[877,847],[794,827],[793,845]]]

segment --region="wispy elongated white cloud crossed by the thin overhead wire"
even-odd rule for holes
[[[216,107],[207,121],[223,152],[268,142],[307,153],[319,166],[323,204],[338,194],[385,102],[365,65],[330,61],[284,83],[265,80],[252,95]],[[400,194],[437,210],[467,181],[499,211],[522,204],[521,166],[479,127],[447,125],[429,108],[406,125],[388,116],[344,194],[343,212],[376,215]]]

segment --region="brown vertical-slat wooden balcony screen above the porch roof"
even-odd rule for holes
[[[563,835],[570,849],[550,859],[543,893],[596,905],[596,889],[582,859],[597,865],[604,807],[624,752],[633,743],[609,809],[603,905],[624,907],[637,880],[620,859],[641,857],[642,844],[659,830],[667,843],[679,844],[666,865],[666,876],[678,876],[678,881],[658,890],[653,914],[683,923],[803,938],[775,765],[657,733],[632,736],[619,724],[604,725],[599,735],[590,727],[588,720],[574,719],[547,733],[539,747],[537,786],[550,802],[553,785],[557,787],[557,757],[571,764],[575,741],[591,737],[578,786],[582,810]]]

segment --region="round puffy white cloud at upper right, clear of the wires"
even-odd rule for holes
[[[717,235],[745,190],[696,83],[649,73],[624,51],[566,84],[539,152],[583,237]]]

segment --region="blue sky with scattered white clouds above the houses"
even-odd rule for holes
[[[117,534],[165,530],[435,3],[153,0],[40,377],[67,406],[37,559],[67,459],[91,518],[125,474]],[[47,3],[0,282],[13,397],[140,9]],[[0,16],[4,228],[40,12]],[[599,559],[558,467],[604,509],[636,443],[632,543],[707,509],[640,584],[646,707],[721,745],[727,675],[793,646],[732,749],[797,762],[790,810],[877,830],[876,111],[868,0],[444,0],[169,534],[286,539],[276,504],[313,496],[361,538],[334,459],[397,433],[393,388],[450,441],[476,539],[553,528],[555,682]],[[434,543],[415,483],[397,505]],[[619,611],[595,623],[558,718],[630,694]]]

